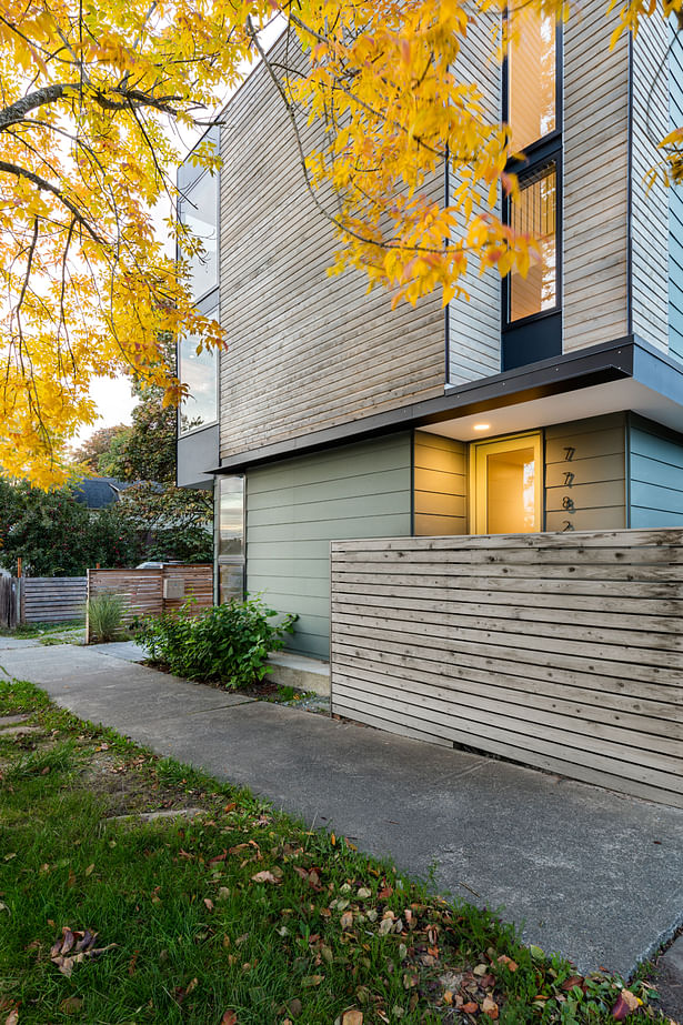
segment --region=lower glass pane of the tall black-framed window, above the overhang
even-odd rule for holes
[[[511,203],[510,223],[515,232],[538,240],[540,259],[534,260],[523,278],[510,274],[510,320],[552,310],[558,303],[556,208],[558,172],[555,163],[520,181],[519,198]]]

